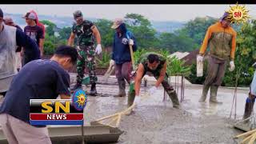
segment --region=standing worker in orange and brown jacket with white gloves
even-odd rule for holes
[[[230,71],[234,70],[234,53],[236,47],[236,32],[230,26],[229,13],[225,12],[219,22],[210,26],[202,42],[199,51],[198,62],[203,61],[207,46],[210,47],[206,80],[202,88],[202,96],[199,102],[206,101],[206,95],[210,89],[210,102],[219,103],[217,100],[218,87],[222,84],[226,65],[230,61]]]

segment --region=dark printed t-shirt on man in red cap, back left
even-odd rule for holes
[[[24,32],[31,39],[33,39],[39,46],[39,41],[41,38],[44,38],[42,28],[40,26],[25,26]]]

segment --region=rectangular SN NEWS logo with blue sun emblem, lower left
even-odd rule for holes
[[[30,99],[31,125],[82,125],[87,96],[75,90],[72,99]]]

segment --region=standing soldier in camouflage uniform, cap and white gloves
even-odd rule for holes
[[[74,23],[72,32],[68,41],[68,45],[71,46],[74,43],[75,34],[78,36],[78,62],[77,62],[77,83],[71,90],[82,88],[82,79],[84,77],[85,67],[89,69],[90,77],[90,95],[95,96],[97,94],[96,81],[97,76],[95,74],[95,54],[102,52],[101,36],[94,23],[83,20],[82,12],[77,10],[74,12]],[[98,43],[96,49],[94,48],[94,37]]]

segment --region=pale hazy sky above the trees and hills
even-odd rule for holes
[[[234,5],[231,5],[234,6]],[[88,18],[123,18],[127,13],[142,14],[151,21],[186,22],[196,17],[220,18],[230,5],[1,5],[10,14],[26,14],[35,10],[44,15],[72,17],[74,10],[82,10]],[[256,18],[256,5],[246,5],[249,15]]]

